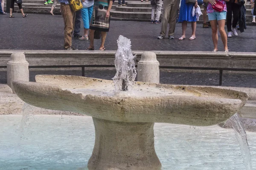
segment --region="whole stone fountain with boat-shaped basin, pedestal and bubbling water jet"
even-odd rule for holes
[[[93,117],[96,136],[89,170],[160,170],[154,122],[216,125],[248,99],[246,93],[228,89],[134,82],[130,44],[119,38],[114,81],[38,75],[36,82],[13,82],[16,94],[30,105]]]

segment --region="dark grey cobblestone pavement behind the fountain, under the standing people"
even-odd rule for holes
[[[0,49],[23,50],[62,50],[64,37],[64,23],[60,15],[29,14],[22,18],[21,14],[14,14],[15,18],[0,15]],[[83,26],[81,26],[81,32]],[[211,29],[202,28],[198,24],[196,40],[189,41],[191,26],[188,25],[186,40],[177,40],[181,36],[181,24],[176,26],[175,40],[157,40],[161,24],[132,21],[111,21],[110,32],[105,43],[107,50],[116,50],[116,40],[120,34],[131,39],[132,50],[157,51],[212,51]],[[95,47],[99,48],[100,41],[96,40]],[[73,45],[84,50],[89,41],[73,40]],[[238,37],[228,39],[230,51],[256,52],[256,27],[248,26]],[[223,50],[219,39],[219,50]]]

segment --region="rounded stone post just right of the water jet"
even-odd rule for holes
[[[154,52],[145,51],[141,55],[137,70],[137,81],[159,83],[159,62],[157,61],[157,55]]]

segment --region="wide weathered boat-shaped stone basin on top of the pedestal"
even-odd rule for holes
[[[238,112],[248,99],[241,91],[147,82],[135,82],[130,92],[115,93],[111,80],[65,75],[37,75],[36,82],[13,85],[30,105],[116,122],[216,125]]]

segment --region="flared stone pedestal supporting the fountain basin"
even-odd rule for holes
[[[95,145],[89,170],[160,170],[154,123],[113,122],[93,117]]]

